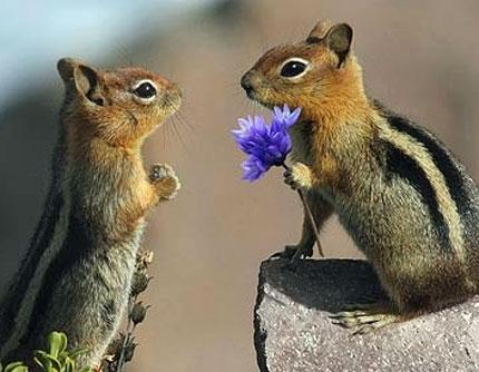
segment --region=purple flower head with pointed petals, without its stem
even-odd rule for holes
[[[267,125],[261,116],[238,119],[240,129],[233,130],[233,137],[240,149],[248,155],[242,164],[243,179],[260,179],[272,166],[282,165],[291,151],[290,127],[297,121],[301,108],[291,111],[274,107],[273,119]]]

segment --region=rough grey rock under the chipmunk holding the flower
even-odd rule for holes
[[[262,372],[479,371],[479,297],[352,335],[332,324],[342,305],[384,297],[364,261],[285,261],[261,266],[255,347]]]

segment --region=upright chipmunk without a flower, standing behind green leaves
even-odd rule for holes
[[[145,215],[175,197],[168,165],[144,169],[145,138],[180,105],[180,90],[139,69],[58,62],[66,95],[45,212],[0,303],[0,360],[30,359],[51,331],[95,366],[127,304]]]

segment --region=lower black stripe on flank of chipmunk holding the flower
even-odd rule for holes
[[[439,211],[439,203],[436,190],[432,187],[426,172],[412,157],[404,154],[389,141],[383,141],[385,149],[387,178],[397,176],[407,180],[421,196],[431,216],[434,232],[442,243],[441,247],[447,252],[453,252],[449,241],[449,226]]]

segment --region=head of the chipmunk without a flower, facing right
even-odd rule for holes
[[[136,146],[182,101],[177,85],[139,68],[97,70],[63,58],[58,71],[66,86],[63,121],[113,146]]]

